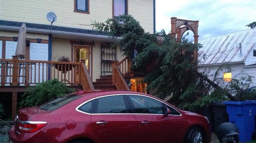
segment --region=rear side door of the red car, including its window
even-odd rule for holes
[[[99,97],[91,123],[100,143],[136,143],[137,122],[124,95]]]

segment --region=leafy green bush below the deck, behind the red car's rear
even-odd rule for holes
[[[72,88],[68,88],[65,83],[57,79],[37,83],[26,88],[20,105],[21,107],[38,106],[71,92],[74,92]]]

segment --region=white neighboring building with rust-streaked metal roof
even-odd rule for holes
[[[231,72],[219,73],[225,80],[244,73],[254,77],[252,86],[256,86],[256,28],[201,39],[199,43],[203,46],[199,49],[199,71],[210,69],[212,79],[221,65],[228,66]]]

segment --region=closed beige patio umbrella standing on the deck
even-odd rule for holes
[[[25,59],[26,51],[26,24],[23,23],[19,30],[19,37],[17,41],[17,48],[15,55],[18,55],[20,59]]]

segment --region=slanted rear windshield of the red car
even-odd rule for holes
[[[74,101],[78,98],[81,98],[82,96],[80,95],[66,95],[66,96],[63,96],[63,97],[59,97],[59,98],[56,98],[56,99],[53,99],[52,101],[50,102],[47,102],[46,104],[43,104],[41,106],[39,106],[40,109],[42,110],[46,110],[46,111],[53,111],[71,101]]]

